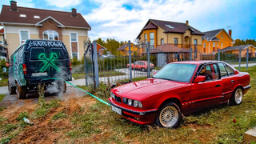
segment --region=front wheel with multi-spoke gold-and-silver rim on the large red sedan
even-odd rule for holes
[[[175,128],[181,120],[181,112],[173,102],[166,103],[158,110],[155,124],[160,127]]]

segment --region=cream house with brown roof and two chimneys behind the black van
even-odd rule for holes
[[[0,23],[4,29],[4,40],[8,45],[9,58],[26,39],[48,39],[64,42],[70,58],[81,59],[83,42],[88,39],[90,25],[77,13],[57,10],[42,10],[17,6],[2,6]]]

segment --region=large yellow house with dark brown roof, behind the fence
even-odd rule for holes
[[[201,31],[189,25],[189,22],[168,22],[150,19],[138,34],[140,42],[150,42],[150,49],[163,44],[178,48],[202,49]]]

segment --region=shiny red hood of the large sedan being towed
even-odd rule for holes
[[[118,86],[112,91],[125,98],[141,100],[142,98],[146,98],[152,94],[158,94],[166,90],[173,90],[185,85],[187,85],[187,83],[148,78],[142,81],[130,82],[126,85]]]

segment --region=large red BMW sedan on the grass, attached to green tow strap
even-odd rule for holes
[[[239,105],[250,75],[226,62],[173,62],[153,78],[115,87],[112,110],[139,124],[174,128],[182,115],[221,103]]]

